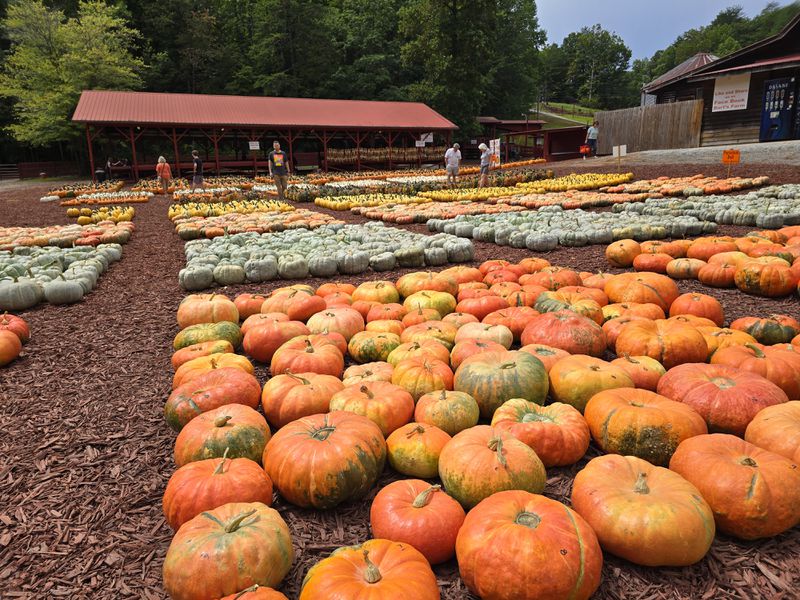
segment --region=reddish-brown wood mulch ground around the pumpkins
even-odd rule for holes
[[[558,170],[590,170],[586,162],[585,169],[571,165]],[[636,169],[636,175],[695,171],[676,165]],[[724,174],[718,171],[704,169]],[[750,174],[767,174],[778,183],[800,180],[795,168],[754,166]],[[0,189],[0,225],[69,222],[63,208],[38,201],[48,187]],[[167,205],[156,198],[136,207],[136,233],[122,261],[83,302],[43,304],[23,314],[33,338],[19,360],[0,369],[0,598],[165,597],[161,565],[171,531],[161,514],[161,496],[175,469],[175,436],[163,421],[162,407],[172,378],[175,311],[185,295],[177,284],[183,244],[166,218]],[[347,213],[339,216],[363,221]],[[483,243],[476,243],[476,249],[476,264],[531,255]],[[559,249],[545,257],[582,270],[608,270],[599,246]],[[375,278],[367,274],[350,280]],[[232,296],[280,285],[224,291]],[[683,291],[713,293],[729,320],[776,312],[800,318],[796,298],[766,300],[710,291],[697,283],[679,285]],[[266,369],[259,367],[257,375],[264,382]],[[578,465],[551,469],[545,494],[568,503],[575,473],[595,455],[591,448]],[[396,478],[387,468],[379,484]],[[287,596],[297,597],[311,564],[336,547],[370,537],[369,505],[377,489],[366,500],[327,512],[301,510],[276,496],[275,506],[297,550],[283,586]],[[473,598],[455,562],[437,567],[436,573],[443,598]],[[798,598],[799,573],[800,528],[759,542],[720,535],[703,561],[684,569],[646,569],[606,555],[596,597]]]

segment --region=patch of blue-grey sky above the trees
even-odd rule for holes
[[[786,4],[787,2],[781,2]],[[538,0],[539,24],[548,43],[561,41],[581,27],[600,23],[619,35],[633,58],[652,56],[687,29],[709,24],[724,8],[744,8],[758,14],[767,0]]]

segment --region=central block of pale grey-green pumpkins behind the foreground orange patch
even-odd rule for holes
[[[368,223],[196,239],[186,243],[185,253],[181,287],[202,290],[214,283],[332,277],[370,269],[467,262],[474,248],[472,242],[446,234],[428,236]]]

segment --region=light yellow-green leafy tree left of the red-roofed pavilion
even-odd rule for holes
[[[41,0],[17,0],[5,28],[11,50],[0,74],[0,95],[15,101],[13,136],[32,146],[73,139],[70,121],[87,89],[136,89],[144,63],[131,49],[138,33],[120,10],[82,1],[78,15],[47,8]]]

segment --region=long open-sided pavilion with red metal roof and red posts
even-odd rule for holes
[[[72,120],[85,124],[93,173],[122,152],[130,162],[113,174],[136,179],[159,155],[180,176],[191,149],[217,174],[266,170],[273,140],[299,169],[419,164],[439,160],[457,129],[417,102],[120,91],[84,91]]]

